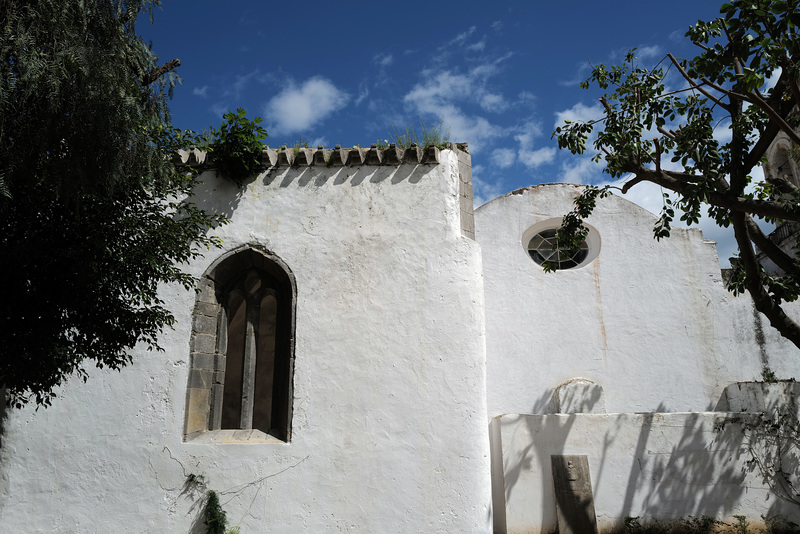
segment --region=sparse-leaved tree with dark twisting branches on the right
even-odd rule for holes
[[[795,158],[800,146],[800,10],[796,0],[735,0],[720,14],[686,33],[700,51],[692,59],[667,54],[645,68],[633,50],[621,65],[593,67],[581,86],[609,91],[600,98],[603,117],[567,122],[553,135],[560,148],[581,154],[596,133],[596,159],[611,176],[627,177],[623,193],[641,182],[661,186],[656,238],[669,236],[676,210],[688,224],[705,211],[732,227],[739,252],[729,288],[749,292],[756,308],[800,347],[800,326],[781,306],[800,295],[800,257],[772,243],[756,223],[800,223],[800,189],[765,159],[778,136],[791,142]],[[763,180],[753,178],[759,166]],[[583,219],[609,193],[586,189],[564,219],[562,245],[580,242]],[[782,274],[768,274],[755,247]]]

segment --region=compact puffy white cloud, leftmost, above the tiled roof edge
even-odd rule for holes
[[[298,86],[293,80],[266,105],[264,114],[280,135],[307,130],[347,105],[350,96],[322,77]]]

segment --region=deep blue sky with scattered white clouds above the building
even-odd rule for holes
[[[470,145],[480,205],[533,184],[606,181],[590,154],[550,138],[564,119],[598,115],[601,92],[578,88],[590,64],[618,63],[633,47],[644,65],[666,52],[693,57],[683,34],[720,3],[163,0],[155,24],[138,30],[162,62],[182,62],[175,126],[203,130],[242,107],[263,117],[273,147],[363,147],[393,126],[441,121]],[[661,204],[655,187],[627,198]],[[728,232],[701,227],[724,263]]]

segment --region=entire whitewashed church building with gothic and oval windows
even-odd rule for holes
[[[0,531],[201,533],[209,490],[243,534],[800,523],[736,419],[793,401],[754,381],[800,353],[699,230],[657,242],[612,196],[563,254],[579,187],[473,210],[464,145],[263,160],[243,188],[203,175],[231,222],[198,292],[163,288],[165,352],[5,411]]]

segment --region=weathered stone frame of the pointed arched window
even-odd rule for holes
[[[232,280],[252,269],[263,271],[276,279],[283,293],[282,303],[279,303],[279,313],[283,315],[283,319],[279,326],[280,332],[276,336],[276,369],[273,381],[273,388],[278,388],[277,394],[280,400],[276,408],[279,412],[280,428],[278,432],[271,433],[258,429],[220,428],[225,384],[228,288]],[[201,443],[291,441],[296,302],[297,285],[291,269],[278,255],[260,245],[247,244],[228,251],[206,269],[198,283],[192,313],[184,441]],[[275,398],[273,394],[273,399]]]

